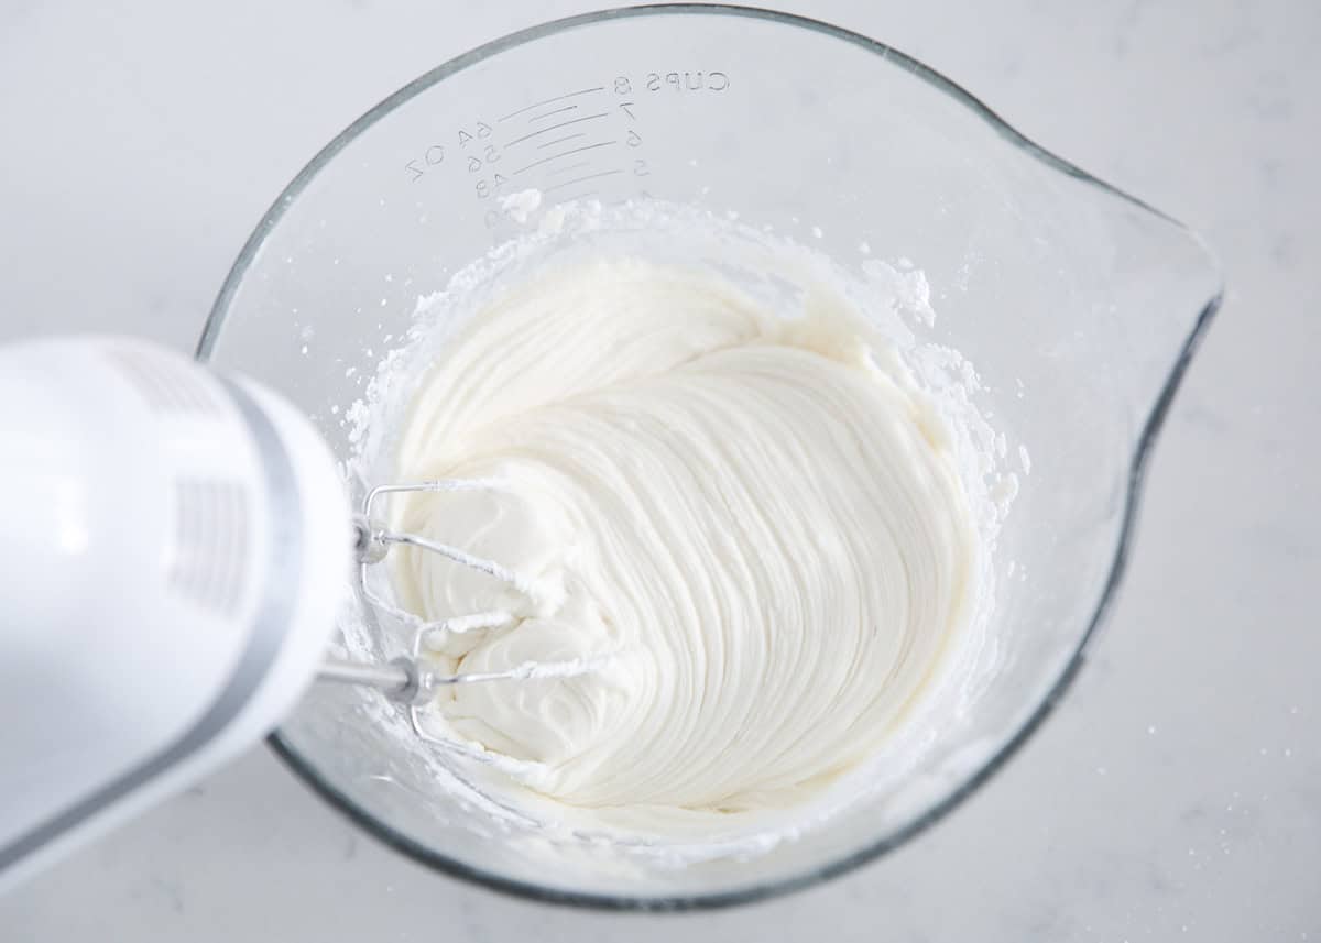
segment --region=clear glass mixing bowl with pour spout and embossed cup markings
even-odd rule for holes
[[[399,90],[293,180],[230,272],[198,357],[299,404],[347,456],[361,395],[420,293],[513,234],[501,197],[651,195],[737,211],[844,264],[909,259],[930,341],[982,374],[1030,444],[999,535],[993,671],[893,788],[797,841],[687,868],[621,864],[474,829],[399,753],[370,693],[321,685],[272,737],[317,792],[403,853],[530,897],[731,903],[897,847],[974,792],[1061,697],[1114,596],[1143,460],[1219,298],[1206,247],[1044,152],[902,53],[734,7],[579,16],[476,49]],[[550,862],[550,864],[548,864]]]

